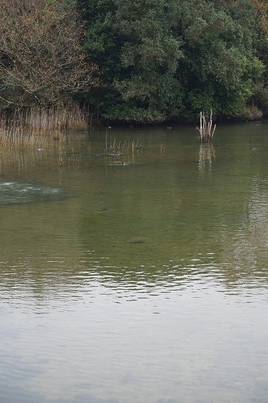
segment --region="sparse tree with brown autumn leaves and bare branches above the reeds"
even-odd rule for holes
[[[0,0],[0,107],[57,104],[96,84],[71,0]]]

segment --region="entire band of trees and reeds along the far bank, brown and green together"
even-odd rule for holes
[[[0,0],[0,17],[2,145],[100,119],[268,115],[265,0]]]

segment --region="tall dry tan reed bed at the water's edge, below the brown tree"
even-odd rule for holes
[[[69,103],[56,108],[33,107],[11,116],[0,114],[0,147],[44,147],[51,139],[63,141],[66,130],[87,128],[88,112]]]

